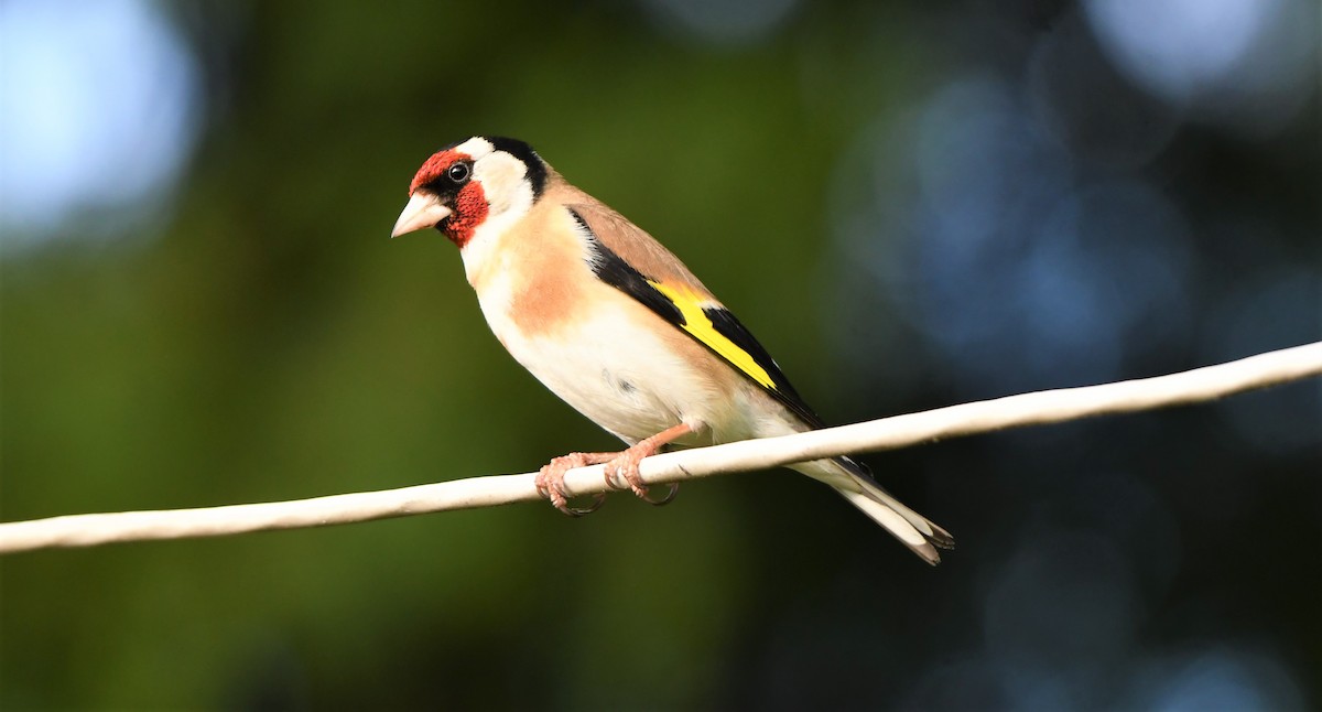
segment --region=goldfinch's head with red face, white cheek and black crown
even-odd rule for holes
[[[408,184],[390,237],[436,228],[463,247],[479,230],[505,229],[542,193],[547,165],[516,139],[473,136],[432,154]]]

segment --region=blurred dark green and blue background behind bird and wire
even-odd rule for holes
[[[833,422],[1322,337],[1307,0],[0,4],[0,519],[530,471],[612,439],[412,172],[530,142]],[[1322,393],[0,560],[0,707],[1305,708]]]

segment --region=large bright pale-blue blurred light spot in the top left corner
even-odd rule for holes
[[[104,234],[168,197],[197,135],[197,67],[153,4],[5,3],[0,71],[7,244],[93,212]]]

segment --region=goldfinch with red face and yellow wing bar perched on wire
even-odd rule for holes
[[[619,437],[619,453],[570,453],[537,475],[562,512],[564,472],[605,463],[611,488],[653,504],[642,458],[824,427],[752,334],[674,254],[570,184],[527,143],[472,136],[427,157],[391,237],[443,233],[496,339],[561,400]],[[858,461],[789,466],[843,495],[924,561],[954,539],[883,490]]]

